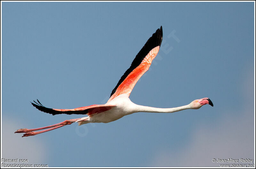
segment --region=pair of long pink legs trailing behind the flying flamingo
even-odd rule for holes
[[[18,129],[14,133],[26,133],[22,137],[24,137],[24,136],[34,136],[34,135],[37,135],[37,134],[40,134],[40,133],[44,133],[46,131],[51,131],[51,130],[58,129],[60,127],[72,124],[73,122],[76,122],[77,120],[80,120],[80,118],[79,119],[65,120],[61,123],[57,123],[57,124],[54,124],[54,125],[51,125],[51,126],[36,128],[36,129]],[[51,129],[49,129],[49,128],[51,128]],[[43,130],[43,129],[46,129],[46,130]],[[36,130],[43,130],[43,131],[33,132],[33,131],[36,131]]]

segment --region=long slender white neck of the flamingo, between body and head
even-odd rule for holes
[[[191,106],[189,104],[185,106],[174,107],[174,108],[156,108],[156,107],[136,105],[135,111],[149,112],[149,113],[173,113],[173,112],[178,112],[178,111],[190,109],[190,108]]]

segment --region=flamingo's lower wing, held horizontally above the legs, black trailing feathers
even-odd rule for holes
[[[35,102],[35,101],[34,101]],[[86,107],[78,107],[74,109],[55,109],[55,108],[47,108],[44,107],[39,100],[37,100],[38,103],[32,103],[30,102],[34,107],[36,107],[38,110],[49,113],[52,115],[55,114],[87,114],[91,115],[94,113],[101,113],[105,112],[107,110],[110,110],[111,108],[115,107],[114,105],[91,105]]]

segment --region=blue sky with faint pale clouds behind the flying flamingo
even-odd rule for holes
[[[2,158],[49,167],[254,163],[253,2],[2,2],[1,16]],[[214,107],[14,134],[86,116],[40,112],[36,99],[50,108],[105,104],[160,26],[159,53],[130,99],[168,108],[209,97]]]

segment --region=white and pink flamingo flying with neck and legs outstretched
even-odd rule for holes
[[[91,105],[74,109],[55,109],[44,107],[38,99],[37,102],[31,102],[31,104],[38,110],[52,115],[86,114],[87,117],[65,120],[51,126],[36,129],[18,129],[15,133],[25,133],[22,137],[34,136],[72,124],[74,122],[77,122],[79,126],[86,123],[108,123],[111,121],[116,121],[125,115],[133,114],[136,112],[173,113],[185,109],[199,109],[205,104],[209,104],[213,107],[213,103],[209,98],[196,99],[188,105],[174,108],[156,108],[141,106],[133,103],[129,99],[134,85],[137,83],[140,77],[149,69],[151,62],[156,57],[161,46],[162,39],[163,29],[161,26],[156,30],[155,33],[152,34],[152,36],[148,39],[140,52],[136,55],[135,59],[132,61],[130,68],[125,71],[124,75],[121,77],[116,87],[111,92],[110,98],[108,99],[107,103],[104,105]]]

